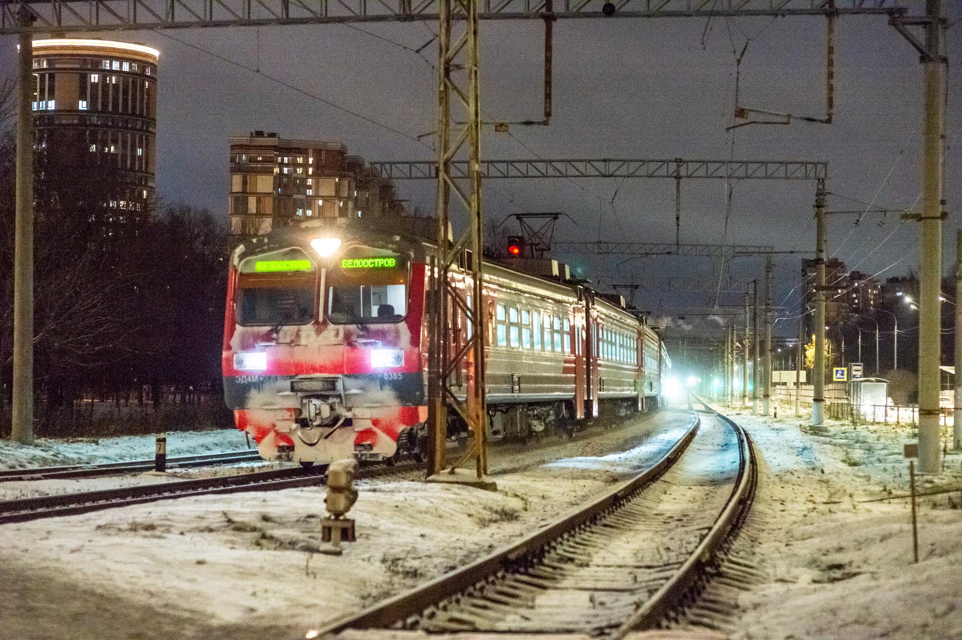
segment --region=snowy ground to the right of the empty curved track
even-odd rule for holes
[[[723,410],[723,409],[722,409]],[[828,421],[810,435],[782,407],[778,420],[725,411],[747,427],[762,460],[748,537],[770,581],[744,594],[742,639],[962,638],[962,456],[918,478],[919,564],[912,557],[910,426]],[[789,417],[785,417],[789,416]]]

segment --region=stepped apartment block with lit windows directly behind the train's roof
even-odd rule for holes
[[[230,228],[235,239],[306,218],[404,214],[391,180],[340,142],[254,131],[230,138]]]

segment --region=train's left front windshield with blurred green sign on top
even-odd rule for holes
[[[296,247],[241,261],[237,319],[242,326],[307,324],[315,319],[317,269]]]

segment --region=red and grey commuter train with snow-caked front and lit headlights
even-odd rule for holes
[[[264,458],[307,466],[424,453],[434,246],[388,223],[311,220],[235,250],[224,397]],[[658,405],[671,364],[657,332],[615,296],[515,267],[484,269],[492,438],[570,432]],[[463,287],[467,276],[451,277]],[[450,330],[463,339],[468,323],[455,314]],[[449,424],[449,435],[463,430]]]

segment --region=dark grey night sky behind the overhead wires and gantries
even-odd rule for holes
[[[957,7],[949,5],[949,20]],[[161,51],[158,109],[158,192],[227,217],[227,138],[254,129],[282,137],[342,141],[367,160],[435,158],[437,49],[435,23],[113,32]],[[540,119],[541,21],[481,25],[482,106],[493,119]],[[174,39],[176,38],[176,39]],[[387,38],[393,41],[386,41]],[[909,208],[920,192],[922,65],[918,53],[881,16],[838,20],[835,121],[832,125],[748,126],[729,134],[735,54],[750,38],[741,64],[741,104],[795,115],[823,116],[825,20],[813,18],[592,19],[555,23],[554,116],[549,127],[513,126],[511,135],[484,131],[482,155],[498,158],[686,158],[817,160],[829,163],[829,209]],[[947,33],[958,59],[962,25]],[[236,64],[204,53],[207,49]],[[405,48],[407,47],[407,48]],[[13,77],[15,40],[0,38],[4,74]],[[430,61],[430,64],[428,63]],[[271,79],[283,80],[401,133],[394,133]],[[962,205],[962,80],[949,70],[945,227],[946,274],[954,258]],[[404,134],[404,135],[402,135]],[[733,144],[733,150],[732,150]],[[401,183],[410,206],[430,212],[431,182]],[[611,203],[617,190],[617,198]],[[725,233],[723,180],[682,183],[682,242],[772,244],[811,249],[815,184],[748,181],[733,188]],[[843,197],[844,196],[844,197]],[[844,198],[852,198],[856,201]],[[577,221],[558,228],[560,240],[673,242],[672,180],[489,181],[490,223],[523,211],[563,211]],[[916,268],[916,224],[870,216],[835,217],[829,253],[849,269],[884,279]],[[886,239],[888,240],[886,241]],[[882,243],[879,247],[879,243]],[[797,284],[798,256],[776,262],[776,302]],[[704,258],[570,259],[586,275],[716,273]],[[739,259],[738,277],[760,261]],[[714,268],[717,269],[717,266]],[[741,296],[736,296],[741,299]],[[724,302],[725,300],[722,300]],[[704,305],[705,294],[641,292],[648,309]],[[788,300],[792,304],[793,299]],[[794,322],[792,323],[794,325]],[[787,333],[794,329],[786,326]]]

